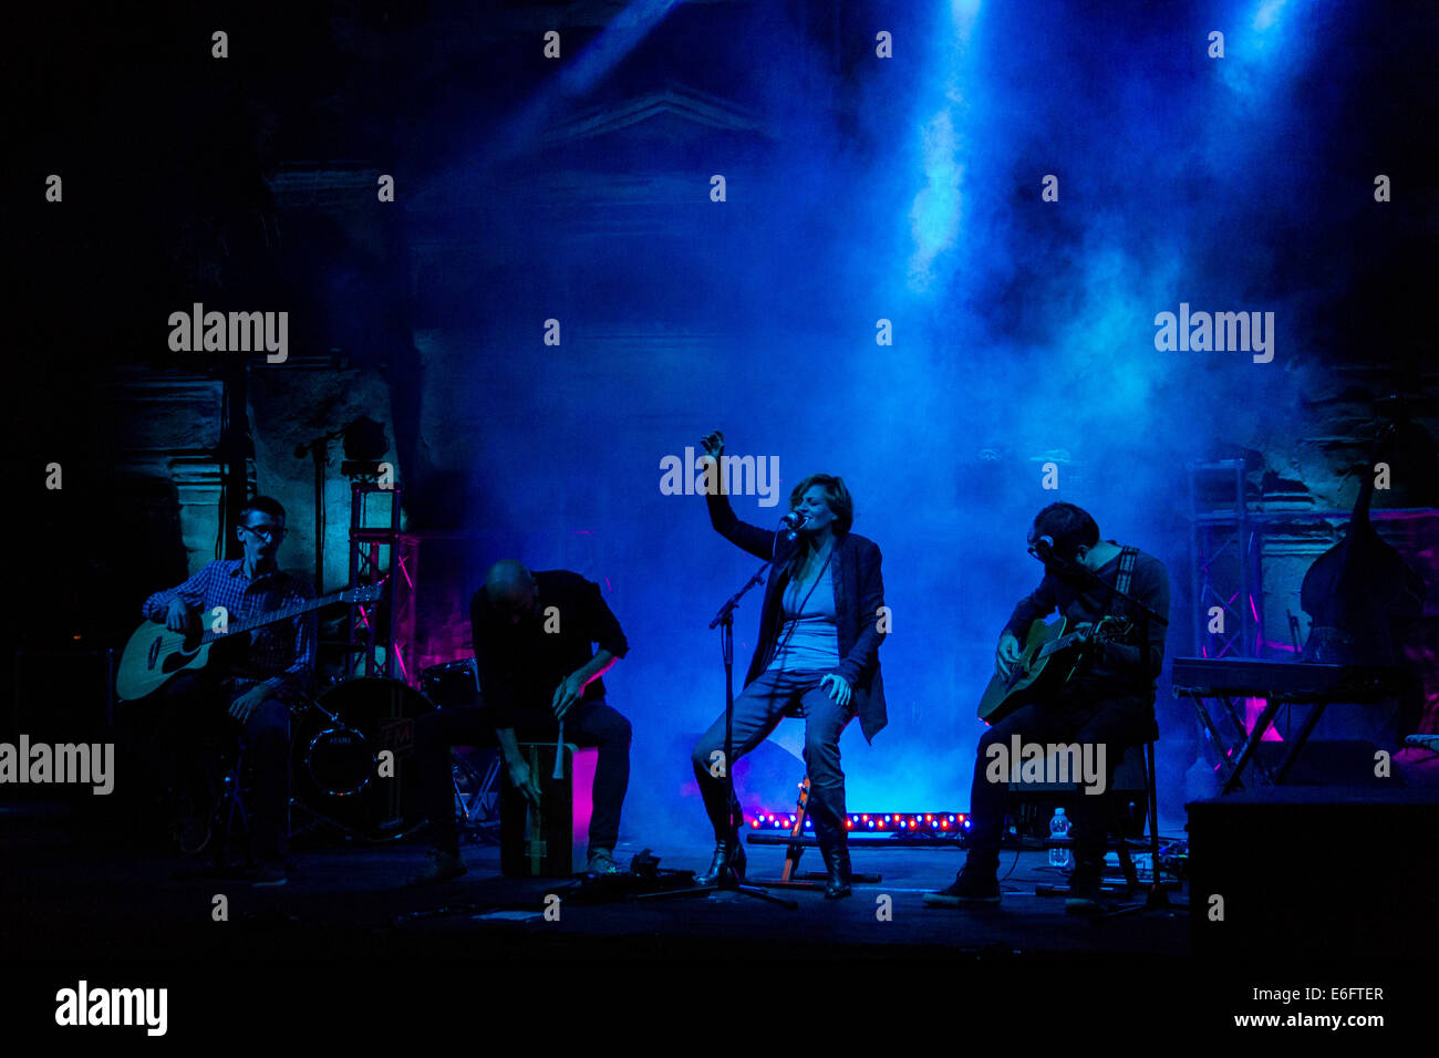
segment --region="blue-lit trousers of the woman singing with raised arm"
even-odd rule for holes
[[[730,764],[763,743],[784,717],[804,717],[804,766],[810,779],[809,818],[814,823],[814,836],[825,846],[843,848],[848,839],[839,736],[853,720],[855,713],[853,700],[840,708],[829,691],[820,687],[825,675],[826,672],[770,669],[744,688],[744,694],[734,700]],[[715,839],[724,841],[730,833],[730,808],[725,805],[725,780],[724,772],[717,766],[717,753],[724,753],[724,713],[699,737],[691,754],[695,780],[705,799],[705,812],[709,813]]]

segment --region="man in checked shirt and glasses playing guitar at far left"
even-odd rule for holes
[[[227,622],[258,618],[314,597],[305,582],[275,561],[285,538],[285,508],[269,497],[255,497],[240,511],[236,535],[242,559],[219,559],[177,587],[145,599],[144,616],[174,632],[213,628],[223,606]],[[160,688],[161,724],[180,764],[181,796],[189,812],[181,848],[199,851],[209,839],[212,806],[219,795],[216,747],[226,724],[243,727],[255,764],[253,833],[259,877],[256,885],[285,884],[289,806],[289,705],[308,689],[315,666],[312,615],[222,641],[210,662],[186,671]],[[233,646],[230,643],[233,642]],[[224,649],[229,646],[229,649]],[[227,717],[230,720],[227,720]]]

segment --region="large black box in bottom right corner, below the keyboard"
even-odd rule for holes
[[[1187,809],[1194,954],[1435,957],[1439,793],[1281,786]]]

